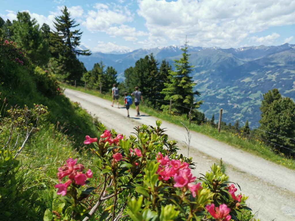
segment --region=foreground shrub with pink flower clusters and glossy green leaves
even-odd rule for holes
[[[175,141],[165,131],[142,125],[129,137],[101,125],[99,138],[86,135],[84,144],[96,160],[98,173],[92,174],[77,160],[68,159],[58,169],[57,194],[71,200],[65,214],[73,220],[250,220],[248,197],[236,194],[235,184],[214,164],[196,177],[191,158],[177,154]],[[89,146],[88,146],[89,145]],[[86,172],[85,172],[86,171]],[[91,177],[100,184],[90,187]],[[89,183],[90,181],[90,183]],[[66,215],[66,213],[68,213]],[[249,217],[249,216],[248,216]]]

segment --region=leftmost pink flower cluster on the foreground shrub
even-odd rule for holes
[[[85,185],[85,181],[87,178],[92,178],[93,173],[91,169],[87,170],[85,174],[82,173],[84,166],[82,164],[77,164],[77,159],[73,160],[73,158],[69,158],[67,163],[62,167],[58,168],[58,180],[59,184],[56,184],[54,187],[58,188],[57,194],[61,194],[65,196],[67,194],[67,189],[71,185],[71,183],[75,183],[77,185]],[[68,176],[68,180],[65,183],[61,183],[63,177]]]

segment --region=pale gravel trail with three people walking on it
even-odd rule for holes
[[[112,108],[108,100],[70,89],[65,90],[65,95],[72,101],[81,103],[100,122],[119,133],[129,135],[133,132],[133,127],[141,124],[155,126],[157,118],[142,112],[140,117],[132,117],[136,113],[130,109],[131,117],[128,119],[125,108]],[[169,139],[178,141],[178,146],[182,149],[180,152],[187,156],[188,150],[183,142],[185,128],[166,121],[163,121],[162,127],[168,128]],[[219,162],[222,158],[230,180],[238,183],[242,194],[250,197],[248,205],[253,212],[258,211],[257,217],[260,220],[295,220],[295,171],[194,131],[191,132],[189,156],[197,162],[195,176],[208,171],[214,162]]]

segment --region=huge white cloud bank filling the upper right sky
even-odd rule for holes
[[[191,45],[237,47],[249,34],[295,24],[293,0],[138,0],[137,13],[153,37]]]

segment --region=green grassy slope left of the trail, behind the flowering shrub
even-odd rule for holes
[[[5,110],[8,110],[10,106],[23,108],[24,105],[27,105],[32,108],[34,104],[43,104],[48,107],[48,113],[40,119],[37,125],[38,131],[32,134],[17,157],[20,164],[16,172],[17,182],[23,183],[20,188],[23,190],[34,189],[38,194],[38,197],[30,202],[30,206],[40,207],[37,220],[43,220],[46,208],[51,209],[52,205],[59,201],[55,199],[56,188],[54,187],[58,183],[56,176],[58,167],[63,165],[69,157],[72,157],[78,158],[78,163],[89,168],[92,157],[89,151],[83,148],[87,147],[83,141],[85,135],[98,137],[99,131],[91,116],[78,104],[71,103],[63,94],[47,97],[40,93],[37,83],[34,81],[35,78],[32,77],[32,72],[19,69],[19,75],[23,79],[20,79],[18,83],[0,84],[0,109],[4,100],[7,104]],[[0,120],[3,116],[8,117],[4,109],[0,113],[0,116],[2,115]],[[4,127],[8,130],[9,125],[4,125]],[[22,131],[22,135],[18,139],[17,148],[24,140],[24,132]],[[6,144],[8,135],[9,133],[0,133],[0,146]],[[14,134],[10,146],[15,144],[16,139],[17,136]],[[96,171],[94,166],[91,169]],[[23,179],[23,182],[20,181]],[[19,200],[21,199],[16,196],[15,201],[19,202]],[[17,216],[17,211],[14,209],[11,207],[9,210],[14,216]],[[13,220],[14,216],[10,218]],[[18,220],[17,217],[15,219]]]

